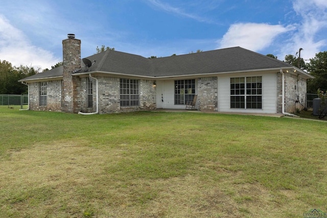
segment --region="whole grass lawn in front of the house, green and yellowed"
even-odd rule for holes
[[[0,217],[327,212],[327,123],[0,107]]]

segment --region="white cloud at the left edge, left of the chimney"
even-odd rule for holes
[[[25,34],[13,27],[2,15],[0,15],[0,60],[9,61],[17,67],[22,64],[42,69],[51,68],[61,61],[51,52],[31,44]]]

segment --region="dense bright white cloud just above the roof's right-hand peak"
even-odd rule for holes
[[[292,26],[269,25],[267,23],[235,23],[218,41],[219,48],[240,46],[258,52],[268,47],[279,34],[293,30]]]

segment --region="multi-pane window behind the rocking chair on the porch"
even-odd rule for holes
[[[175,105],[192,102],[195,95],[195,80],[175,80]]]

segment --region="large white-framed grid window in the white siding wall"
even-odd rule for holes
[[[230,78],[230,108],[262,109],[262,77]]]

